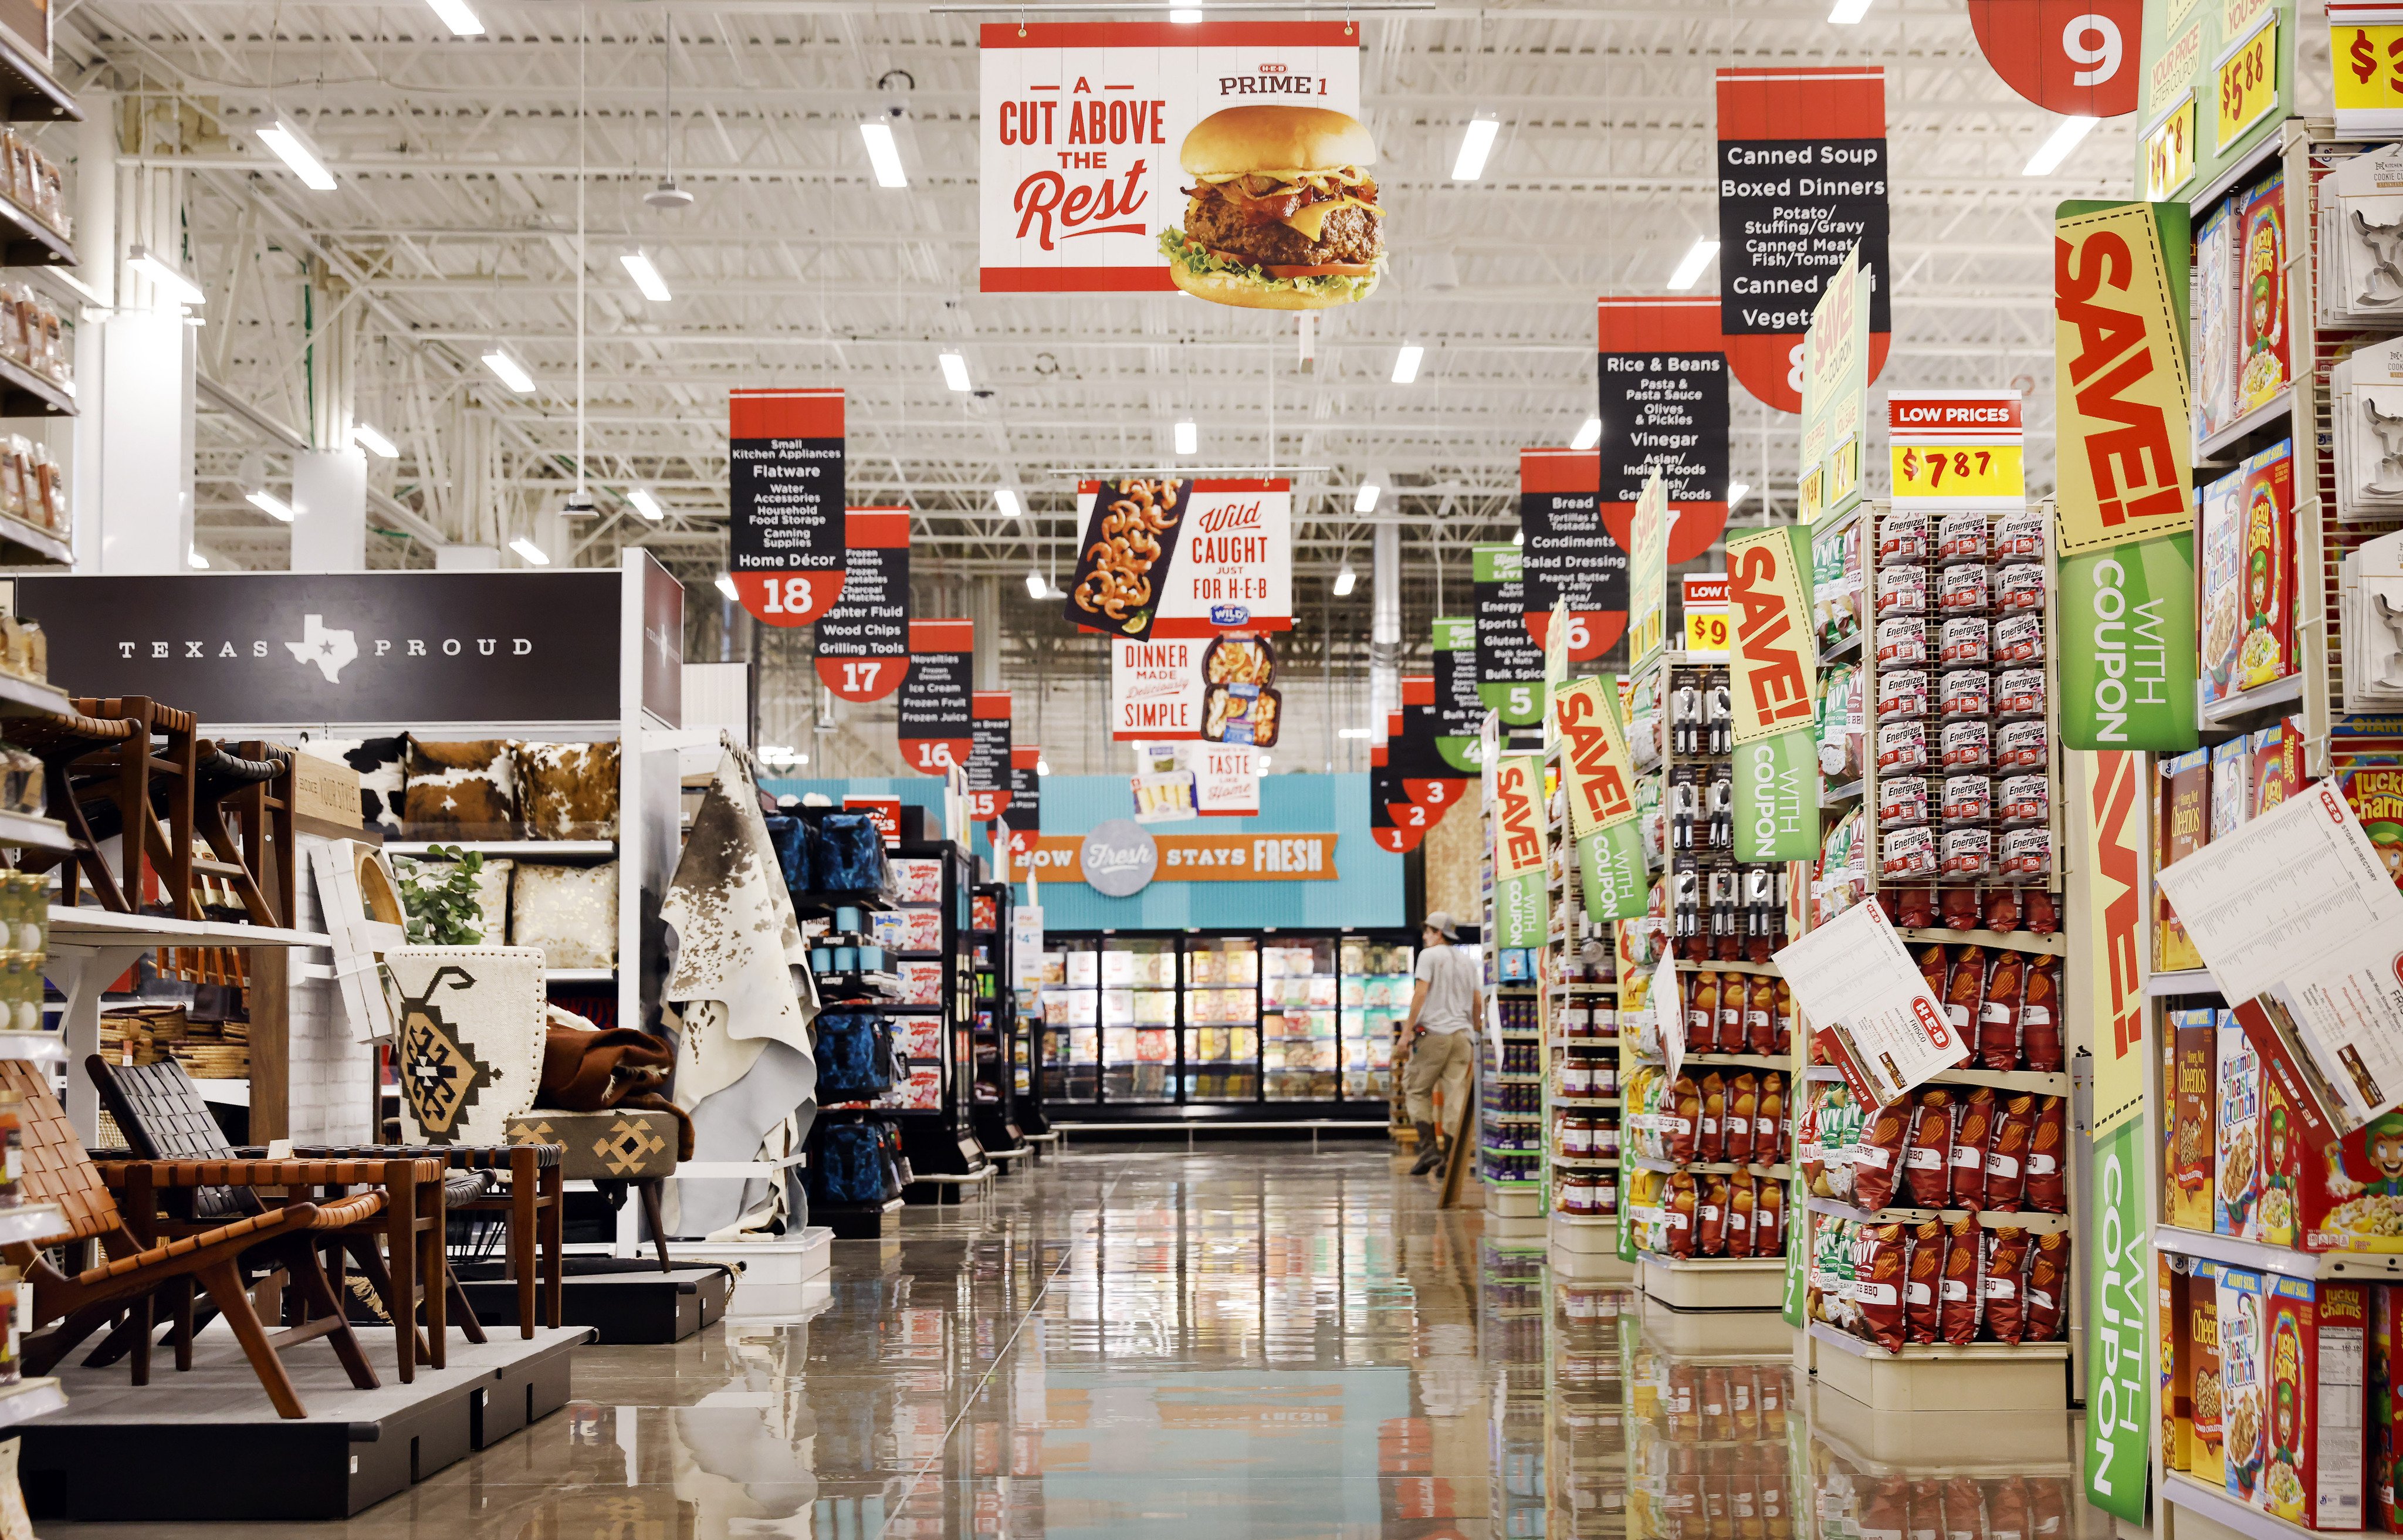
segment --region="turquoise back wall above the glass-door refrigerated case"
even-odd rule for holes
[[[822,793],[841,802],[901,798],[940,807],[940,783],[928,776],[858,781],[767,781],[779,798]],[[1043,834],[1084,834],[1134,812],[1125,776],[1045,776]],[[1367,776],[1264,776],[1259,817],[1185,819],[1153,824],[1153,834],[1319,834],[1336,831],[1334,882],[1153,882],[1132,899],[1103,899],[1081,882],[1043,882],[1045,930],[1259,930],[1408,925],[1401,913],[1401,858],[1367,836]],[[978,853],[990,850],[983,838]],[[1026,887],[1019,887],[1026,901]]]

